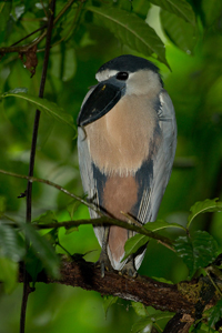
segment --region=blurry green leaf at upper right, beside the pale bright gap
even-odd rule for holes
[[[196,43],[194,27],[165,10],[161,10],[160,20],[168,38],[182,51],[192,53]]]

